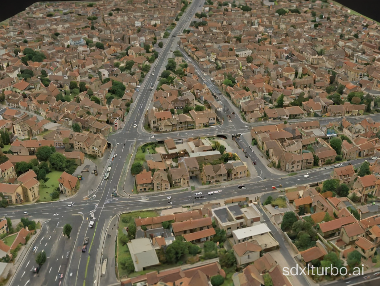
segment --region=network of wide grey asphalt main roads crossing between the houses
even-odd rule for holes
[[[241,141],[238,140],[236,143],[239,148],[244,149],[247,152],[252,161],[257,163],[254,166],[258,172],[257,177],[247,179],[245,189],[238,189],[236,186],[232,185],[210,187],[207,190],[201,190],[206,195],[203,199],[195,199],[195,192],[193,191],[182,191],[180,193],[168,191],[156,193],[151,196],[147,195],[147,201],[142,200],[141,197],[138,196],[130,197],[127,193],[123,193],[120,190],[120,197],[112,197],[112,192],[114,188],[117,188],[127,156],[134,152],[135,148],[133,146],[135,145],[140,145],[152,140],[164,140],[171,137],[185,139],[189,136],[231,136],[232,133],[249,132],[252,126],[275,124],[275,122],[245,123],[237,114],[232,114],[234,107],[231,106],[231,102],[228,98],[225,96],[219,96],[225,107],[228,107],[229,109],[228,111],[225,109],[225,114],[231,116],[230,120],[224,120],[221,125],[213,128],[179,131],[179,136],[171,133],[155,134],[154,138],[152,137],[152,134],[147,133],[144,130],[144,116],[147,107],[149,107],[149,104],[152,101],[152,93],[157,85],[160,71],[165,67],[168,56],[177,44],[176,36],[179,33],[182,33],[182,30],[188,26],[189,22],[192,21],[192,16],[197,9],[200,9],[203,3],[203,0],[194,0],[187,11],[185,11],[182,17],[180,17],[179,22],[171,32],[171,35],[163,46],[157,60],[152,64],[150,73],[147,74],[144,82],[141,84],[139,94],[135,102],[131,104],[128,120],[123,126],[123,129],[112,136],[109,136],[108,140],[113,145],[108,162],[105,164],[105,166],[111,165],[112,167],[109,179],[102,179],[98,186],[94,185],[93,189],[95,191],[89,196],[89,198],[83,199],[83,196],[78,194],[72,199],[69,198],[68,200],[71,200],[70,202],[67,200],[0,209],[0,216],[7,216],[12,220],[20,219],[24,216],[23,213],[28,211],[28,218],[30,220],[40,220],[43,223],[41,233],[33,246],[38,247],[37,252],[42,250],[46,251],[47,261],[41,267],[40,273],[33,274],[32,269],[36,265],[35,256],[32,251],[29,251],[22,260],[14,278],[12,278],[11,285],[107,285],[107,281],[101,281],[100,265],[103,260],[103,243],[105,243],[105,235],[111,219],[127,210],[131,211],[152,207],[165,207],[167,206],[167,194],[171,195],[173,202],[172,206],[176,207],[180,205],[192,205],[193,203],[203,204],[211,199],[226,199],[234,196],[247,196],[272,191],[273,185],[282,184],[282,187],[285,188],[301,183],[318,182],[328,178],[328,175],[332,171],[331,169],[317,168],[308,171],[310,177],[307,179],[303,177],[303,172],[282,179],[280,175],[272,174],[268,171],[267,167],[258,160],[257,155],[248,148],[250,142],[245,141],[242,136]],[[186,55],[185,58],[186,60],[191,61]],[[197,67],[197,65],[195,66]],[[219,93],[217,87],[215,87],[210,79],[205,76],[199,68],[196,68],[196,71],[212,92]],[[150,89],[151,84],[154,87],[153,90]],[[374,120],[380,119],[380,115],[372,115],[371,117]],[[321,124],[327,124],[328,122],[333,122],[337,119],[313,118],[289,120],[289,122],[300,122],[305,120],[320,120]],[[137,125],[137,128],[133,127],[134,124]],[[112,160],[114,154],[118,155]],[[359,164],[363,162],[363,159],[353,160],[351,162],[353,164]],[[347,164],[347,162],[344,164]],[[104,172],[101,172],[100,168],[98,171],[100,176],[104,175],[102,174]],[[92,182],[89,181],[88,183],[91,184]],[[222,190],[222,192],[208,196],[206,193],[212,190]],[[199,192],[199,190],[197,192]],[[68,207],[68,204],[71,202],[73,203],[73,206]],[[96,218],[95,226],[93,228],[89,228],[89,215],[91,212],[94,213]],[[70,239],[62,236],[62,228],[65,223],[69,223],[73,227]],[[86,252],[82,252],[85,237],[89,237],[89,245],[87,246]],[[62,280],[59,279],[58,273],[63,273]],[[342,284],[342,282],[336,284]]]

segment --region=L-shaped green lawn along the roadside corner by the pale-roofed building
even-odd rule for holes
[[[123,259],[126,259],[131,256],[128,250],[127,245],[122,245],[120,242],[120,237],[123,234],[123,229],[126,226],[130,226],[131,224],[135,223],[135,218],[138,217],[141,218],[147,218],[150,216],[158,216],[158,213],[155,211],[143,211],[143,212],[131,212],[131,213],[123,213],[120,215],[119,220],[119,229],[117,230],[117,244],[118,244],[118,251],[117,251],[117,261],[122,261]],[[123,222],[123,219],[125,222]],[[118,263],[118,271],[119,271],[119,278],[127,277],[128,273],[125,269],[122,269],[121,264]]]

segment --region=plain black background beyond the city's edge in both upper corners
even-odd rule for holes
[[[11,1],[11,0],[0,0],[1,1],[1,9],[0,9],[0,22],[4,21],[17,13],[24,11],[25,8],[32,5],[36,0],[19,0],[19,1]],[[67,1],[67,0],[61,0]],[[217,0],[215,0],[217,1]],[[348,8],[363,14],[375,21],[380,22],[380,13],[378,13],[378,0],[336,0],[342,5],[347,6]],[[90,2],[90,0],[89,0]],[[377,3],[377,4],[376,4]],[[323,3],[325,4],[325,3]]]

